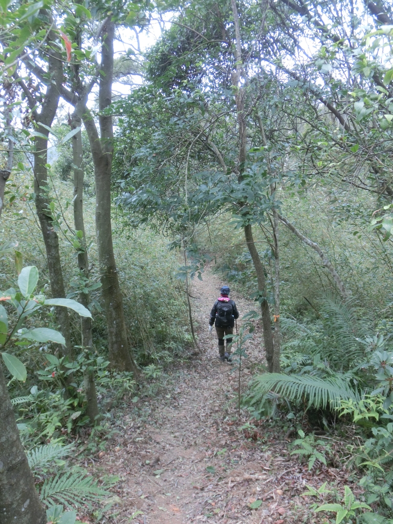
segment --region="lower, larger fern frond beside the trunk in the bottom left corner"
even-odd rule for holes
[[[40,499],[47,506],[57,503],[72,507],[88,504],[97,500],[103,500],[108,495],[104,488],[98,485],[98,481],[91,476],[81,472],[58,473],[55,477],[47,478],[42,485]]]

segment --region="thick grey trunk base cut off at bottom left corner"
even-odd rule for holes
[[[0,522],[46,524],[0,365]]]

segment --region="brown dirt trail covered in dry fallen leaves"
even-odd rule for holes
[[[111,445],[97,457],[96,474],[119,476],[112,490],[111,522],[323,522],[321,514],[309,509],[314,500],[301,496],[305,485],[319,488],[328,481],[339,490],[344,483],[351,485],[342,469],[323,466],[308,472],[307,465],[289,455],[281,423],[265,427],[254,420],[256,428],[242,429],[250,416],[244,411],[237,417],[237,369],[220,361],[216,337],[208,333],[209,313],[221,285],[209,270],[202,282],[195,279],[192,285],[201,355],[174,366],[155,395],[140,398],[136,405],[130,402],[129,411],[115,419],[118,433]],[[240,318],[255,309],[254,302],[236,292],[231,297]],[[242,390],[261,362],[261,347],[257,324],[246,350]],[[256,500],[261,505],[250,509]]]

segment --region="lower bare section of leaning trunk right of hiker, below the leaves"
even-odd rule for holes
[[[272,334],[272,329],[271,329],[269,304],[265,297],[265,293],[266,293],[265,271],[264,271],[264,266],[258,254],[258,250],[255,246],[252,227],[249,224],[244,227],[244,235],[246,237],[247,247],[250,252],[251,258],[253,259],[255,271],[257,274],[258,290],[261,292],[261,294],[264,297],[260,304],[260,311],[262,315],[262,325],[263,325],[263,330],[264,330],[264,343],[265,343],[267,366],[268,366],[269,373],[271,373],[273,369],[274,345],[273,345],[273,334]]]

